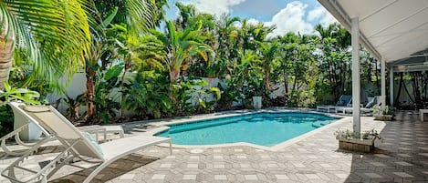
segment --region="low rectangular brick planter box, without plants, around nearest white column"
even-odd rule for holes
[[[373,139],[352,139],[346,137],[336,137],[339,140],[339,149],[366,152],[369,153],[374,149]]]

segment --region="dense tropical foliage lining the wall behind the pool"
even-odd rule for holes
[[[166,5],[84,5],[90,48],[80,69],[87,92],[64,97],[71,120],[109,123],[129,119],[125,113],[147,119],[250,108],[255,96],[263,97],[265,107],[315,107],[351,93],[350,34],[339,24],[316,25],[311,35],[272,36],[275,26],[200,14],[180,3],[179,17],[166,21]],[[360,53],[363,92],[380,95],[377,61]],[[16,86],[27,83],[28,67],[26,53],[17,50],[11,74]],[[43,96],[54,91],[40,86],[48,82],[32,86]],[[87,112],[79,114],[83,106]]]

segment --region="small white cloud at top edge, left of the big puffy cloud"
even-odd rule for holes
[[[191,0],[190,3],[196,7],[196,10],[203,13],[222,15],[230,13],[231,7],[239,5],[245,0]]]

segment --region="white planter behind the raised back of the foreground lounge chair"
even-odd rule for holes
[[[40,128],[38,128],[35,124],[31,123],[31,121],[29,121],[26,117],[22,116],[21,113],[15,111],[16,109],[14,107],[12,107],[12,109],[14,110],[14,129],[26,125],[27,123],[30,123],[27,129],[19,133],[19,137],[21,138],[21,140],[37,140],[42,135],[42,131],[40,130]]]

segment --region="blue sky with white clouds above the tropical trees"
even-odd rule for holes
[[[277,25],[272,36],[282,36],[289,31],[311,34],[317,24],[329,25],[337,20],[319,5],[317,0],[169,0],[167,19],[178,15],[175,2],[193,4],[196,11],[214,15],[230,14],[247,18],[248,23]]]

